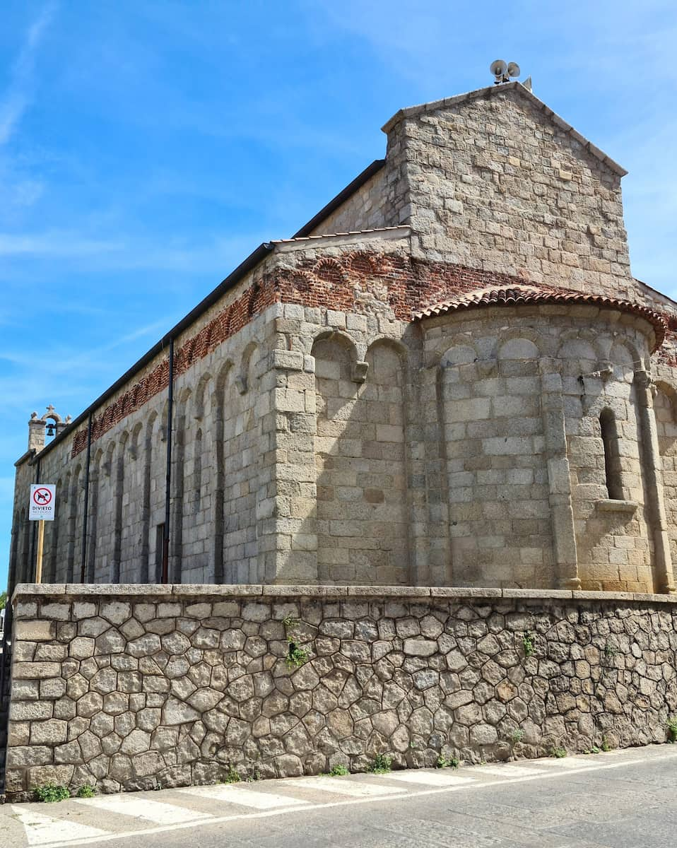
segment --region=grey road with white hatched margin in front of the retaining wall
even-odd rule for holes
[[[0,806],[1,848],[677,848],[677,746]]]

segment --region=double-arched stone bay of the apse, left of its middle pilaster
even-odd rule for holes
[[[529,329],[463,338],[440,360],[450,572],[454,585],[545,588],[553,579],[540,409],[540,338]]]

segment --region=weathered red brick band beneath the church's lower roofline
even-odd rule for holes
[[[524,294],[525,290],[529,292],[528,296]],[[512,302],[510,298],[514,298],[514,303],[579,302],[632,312],[652,324],[657,343],[663,341],[668,321],[674,320],[672,315],[659,315],[640,304],[604,295],[549,289],[498,271],[412,259],[405,254],[358,250],[338,257],[302,259],[295,268],[273,269],[176,350],[175,374],[182,374],[204,359],[219,344],[246,326],[255,315],[275,303],[365,314],[369,311],[369,303],[376,298],[389,305],[395,318],[411,321],[414,317],[433,314],[431,310],[441,308],[440,304],[456,304],[453,307],[455,309],[462,308],[462,304],[467,304],[465,308],[484,305],[479,304],[476,298],[478,292],[486,298],[488,291],[506,294],[496,294],[495,299],[488,300],[485,305],[497,303],[503,297],[506,298],[503,301],[505,303]],[[513,294],[509,294],[511,292]],[[668,332],[668,338],[672,341],[674,333]],[[669,357],[674,358],[674,355],[661,353],[663,361],[668,361]],[[92,441],[163,391],[167,387],[168,377],[169,364],[163,360],[114,403],[109,404],[101,416],[94,418]],[[82,429],[76,432],[72,455],[81,453],[86,446],[87,430]]]

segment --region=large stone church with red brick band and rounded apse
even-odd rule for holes
[[[74,421],[33,416],[10,587],[41,482],[44,582],[674,591],[677,304],[631,274],[624,169],[518,82],[383,131]]]

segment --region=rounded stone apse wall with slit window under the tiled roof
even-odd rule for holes
[[[540,304],[422,327],[450,582],[653,591],[636,377],[652,326],[610,308]]]

